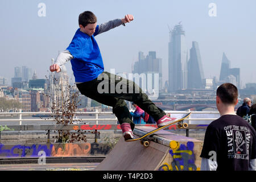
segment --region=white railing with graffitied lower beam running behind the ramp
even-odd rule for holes
[[[182,117],[182,115],[187,114],[188,111],[165,111],[166,113],[170,113],[172,117]],[[185,122],[187,122],[189,125],[186,131],[186,136],[189,137],[189,130],[198,130],[198,129],[206,129],[208,124],[212,122],[214,119],[218,118],[218,111],[191,111],[191,116],[189,118],[185,119]],[[94,130],[95,131],[95,138],[94,141],[97,142],[98,138],[98,130],[121,130],[121,127],[117,124],[117,118],[98,118],[100,114],[112,114],[110,111],[94,111],[94,112],[75,112],[77,115],[94,115],[94,118],[73,118],[73,121],[88,121],[86,124],[72,124],[72,125],[22,125],[22,121],[55,121],[54,118],[48,118],[48,119],[22,119],[23,115],[33,115],[33,114],[48,114],[48,115],[55,115],[55,113],[51,112],[17,112],[17,113],[0,113],[1,115],[18,115],[18,119],[0,119],[0,139],[1,139],[1,131],[28,131],[28,130],[47,130],[47,138],[48,143],[50,139],[50,131],[51,130]],[[59,113],[61,114],[61,113]],[[207,118],[202,116],[207,116]],[[210,117],[210,116],[214,116]],[[2,126],[1,122],[13,122],[13,121],[19,121],[19,125],[5,125]],[[90,123],[90,121],[96,121],[96,124]],[[109,121],[111,123],[109,124],[98,124],[99,121]],[[200,123],[200,122],[204,123]],[[157,127],[154,124],[150,125],[137,125],[137,126],[152,126]],[[173,125],[170,127],[167,127],[167,130],[184,130],[179,129],[177,125]]]

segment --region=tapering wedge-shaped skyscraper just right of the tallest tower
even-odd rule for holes
[[[195,41],[192,42],[190,49],[190,58],[188,60],[188,82],[189,89],[203,88],[204,71],[199,51],[199,44]]]

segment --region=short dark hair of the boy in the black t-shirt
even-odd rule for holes
[[[217,88],[216,95],[224,104],[236,104],[238,98],[237,87],[230,83],[225,83]]]

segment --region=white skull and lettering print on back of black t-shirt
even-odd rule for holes
[[[228,157],[249,159],[250,130],[244,126],[225,126],[228,138]]]

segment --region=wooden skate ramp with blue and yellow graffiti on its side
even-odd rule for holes
[[[135,127],[138,138],[154,127]],[[95,170],[102,171],[152,171],[152,170],[200,170],[203,142],[160,130],[151,137],[150,146],[138,141],[125,142],[123,138],[115,145]]]

